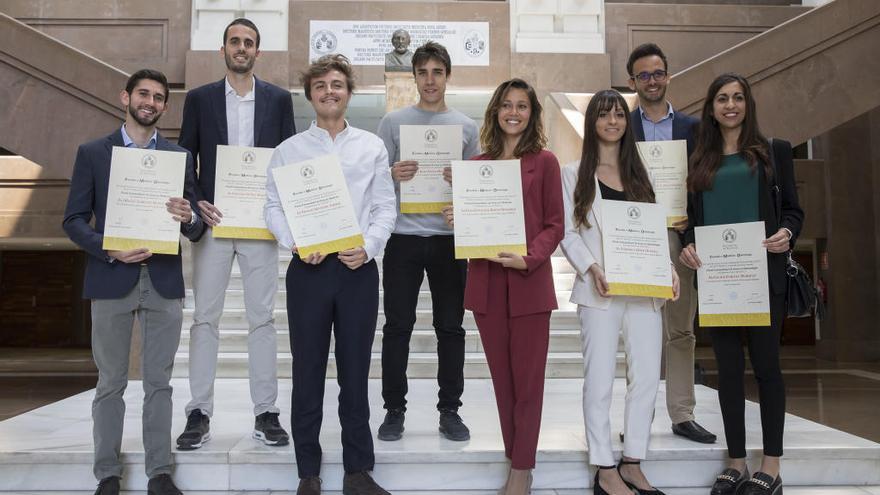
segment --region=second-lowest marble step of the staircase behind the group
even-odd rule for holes
[[[238,330],[220,330],[220,352],[247,352],[248,331],[245,329]],[[189,327],[185,327],[180,335],[180,349],[186,350],[189,346],[190,332]],[[330,348],[333,348],[333,340],[331,339]],[[278,349],[286,351],[290,349],[289,332],[278,330]],[[416,353],[436,353],[437,352],[437,336],[433,330],[415,330],[409,342],[410,352]],[[376,338],[373,340],[373,352],[381,352],[382,350],[382,331],[376,331]],[[581,333],[579,330],[550,330],[550,352],[580,352],[581,350]],[[480,342],[480,335],[476,331],[469,331],[465,334],[465,352],[483,352],[483,344]]]

